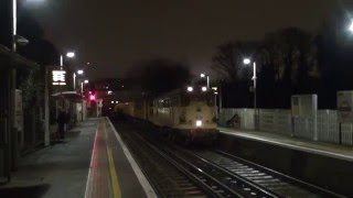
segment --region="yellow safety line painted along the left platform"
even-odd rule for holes
[[[107,154],[108,154],[108,163],[109,163],[113,194],[114,194],[115,198],[121,198],[120,185],[119,185],[117,172],[115,169],[115,163],[113,160],[111,150],[108,146],[108,135],[107,135],[107,129],[106,129],[106,121],[104,121],[104,133],[105,133],[105,139],[106,139],[106,147],[107,147]]]

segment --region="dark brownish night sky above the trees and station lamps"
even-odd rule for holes
[[[286,26],[317,31],[335,0],[41,0],[26,3],[62,51],[90,78],[122,77],[132,64],[165,57],[210,70],[216,46],[260,40]]]

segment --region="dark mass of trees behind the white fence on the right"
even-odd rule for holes
[[[317,94],[319,108],[334,109],[336,91],[353,89],[353,36],[342,15],[328,20],[317,35],[287,28],[254,42],[228,42],[218,47],[213,68],[223,75],[223,105],[253,107],[250,76],[242,78],[242,61],[253,52],[259,108],[290,108],[292,95]],[[247,46],[247,47],[245,47]],[[253,47],[249,47],[253,46]],[[240,77],[240,78],[239,78]]]

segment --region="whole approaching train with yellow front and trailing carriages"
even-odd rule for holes
[[[212,142],[218,134],[216,109],[210,89],[188,87],[156,98],[119,103],[115,112],[150,123],[172,140]]]

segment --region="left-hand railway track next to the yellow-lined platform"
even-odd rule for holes
[[[161,197],[277,197],[228,173],[208,172],[153,139],[147,141],[135,132],[122,136]]]

